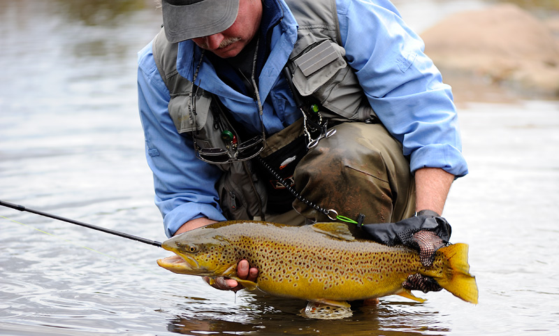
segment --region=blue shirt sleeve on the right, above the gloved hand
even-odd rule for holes
[[[386,129],[403,145],[412,172],[467,174],[451,87],[424,44],[389,1],[337,0],[349,65]]]

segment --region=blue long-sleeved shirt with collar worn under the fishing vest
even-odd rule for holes
[[[296,42],[297,23],[284,1],[277,2],[284,7],[284,17],[272,28],[270,54],[258,81],[262,122],[268,134],[300,117],[280,75]],[[402,143],[412,172],[434,167],[458,177],[467,174],[451,88],[442,83],[440,72],[423,54],[421,38],[407,27],[389,1],[336,0],[336,5],[348,64],[379,119]],[[189,80],[196,68],[194,59],[200,59],[196,45],[192,41],[179,43],[177,71]],[[200,86],[217,94],[247,130],[261,130],[254,99],[225,85],[207,59],[198,78],[202,79]],[[154,175],[155,203],[170,237],[191,219],[225,218],[215,190],[222,172],[196,159],[191,138],[175,129],[167,109],[169,100],[150,43],[138,53],[138,104],[147,163]]]

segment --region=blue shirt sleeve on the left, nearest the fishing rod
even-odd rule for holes
[[[215,183],[221,170],[196,159],[192,140],[181,136],[168,113],[170,95],[155,66],[151,44],[138,53],[138,108],[155,203],[172,236],[191,219],[224,220]]]

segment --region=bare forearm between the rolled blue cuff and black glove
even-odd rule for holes
[[[454,175],[441,168],[416,170],[416,212],[433,210],[442,214],[453,180]]]

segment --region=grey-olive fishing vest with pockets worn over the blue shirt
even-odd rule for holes
[[[335,0],[286,0],[286,3],[298,23],[297,41],[286,64],[298,94],[319,101],[324,107],[321,114],[330,119],[361,122],[374,119],[375,112],[344,58]],[[178,133],[196,137],[196,145],[222,147],[222,131],[214,125],[219,121],[234,129],[231,120],[220,111],[217,98],[210,92],[196,88],[195,96],[191,97],[192,83],[177,71],[177,46],[167,41],[164,29],[152,45],[155,64],[170,93],[170,117]],[[191,99],[196,101],[196,116],[191,114]],[[217,192],[227,219],[264,219],[266,187],[254,173],[252,164],[242,161],[218,165],[224,174],[217,183]]]

